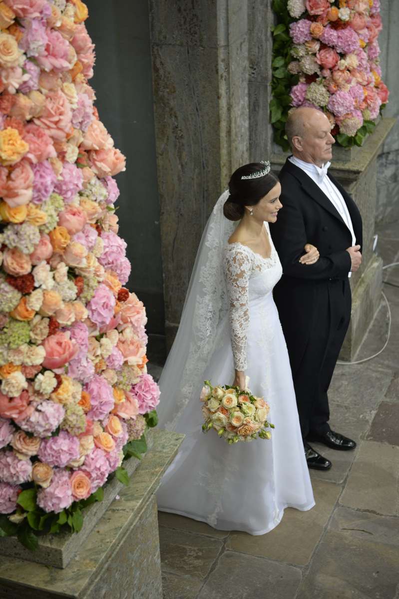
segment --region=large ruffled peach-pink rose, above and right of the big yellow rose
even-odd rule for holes
[[[43,112],[34,122],[43,127],[50,137],[63,141],[71,131],[71,119],[71,105],[67,96],[61,90],[57,90],[47,93]]]

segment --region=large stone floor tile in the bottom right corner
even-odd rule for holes
[[[399,519],[335,510],[296,599],[395,599]]]

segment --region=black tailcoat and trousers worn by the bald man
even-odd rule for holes
[[[330,175],[346,202],[356,244],[362,245],[362,221],[349,193]],[[304,437],[329,429],[327,391],[350,319],[352,235],[319,186],[301,168],[286,161],[279,175],[283,204],[270,226],[283,276],[274,289],[285,335]],[[300,264],[304,246],[320,252],[312,265]]]

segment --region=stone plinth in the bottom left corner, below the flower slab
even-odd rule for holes
[[[81,543],[68,568],[3,558],[0,599],[161,599],[155,492],[183,435],[156,431],[154,436],[153,449],[134,479]]]

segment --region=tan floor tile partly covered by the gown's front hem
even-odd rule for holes
[[[312,510],[286,509],[280,524],[261,536],[231,533],[226,548],[288,564],[305,565],[324,532],[340,492],[339,485],[313,480],[316,505]]]

